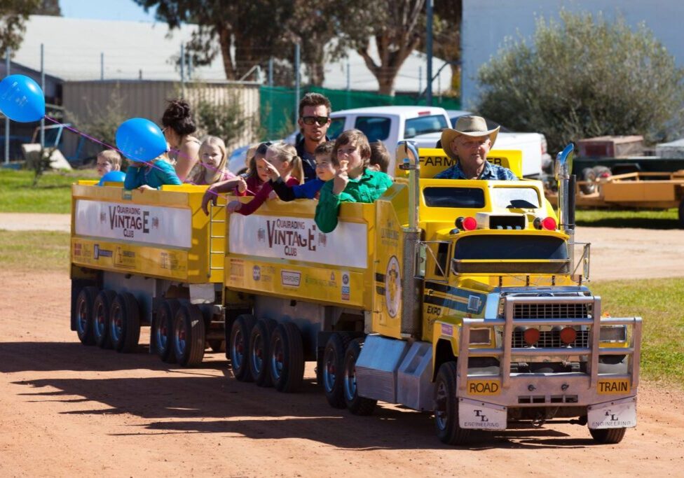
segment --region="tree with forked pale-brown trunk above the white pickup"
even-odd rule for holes
[[[399,68],[420,43],[425,32],[423,6],[425,0],[369,2],[365,10],[358,11],[345,25],[344,34],[377,78],[381,94],[395,93]],[[379,64],[371,56],[371,36],[378,48]]]

